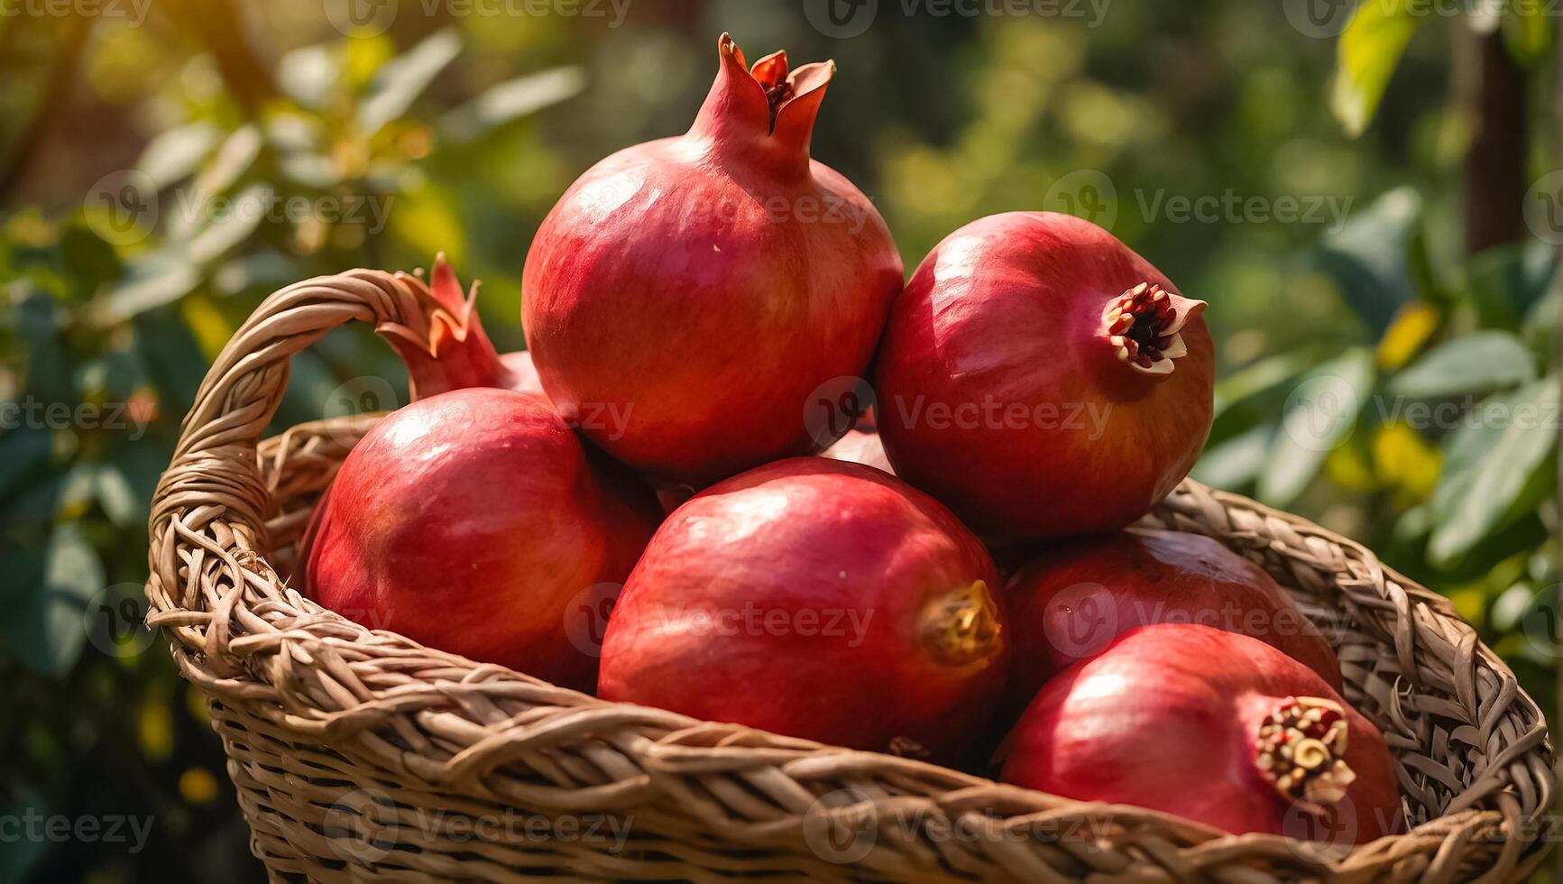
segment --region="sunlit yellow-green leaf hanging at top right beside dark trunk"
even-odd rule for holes
[[[1335,44],[1335,86],[1330,110],[1357,138],[1372,120],[1379,100],[1400,64],[1405,44],[1424,16],[1410,14],[1408,0],[1360,3]]]

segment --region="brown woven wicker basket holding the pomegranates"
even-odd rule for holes
[[[284,580],[374,416],[259,441],[288,357],[352,319],[427,329],[420,282],[352,271],[272,294],[217,357],[152,508],[147,596],[272,879],[733,876],[1508,881],[1544,853],[1541,713],[1449,602],[1371,551],[1185,482],[1150,516],[1268,568],[1332,638],[1399,765],[1408,834],[1227,835],[927,764],[611,704],[369,631]]]

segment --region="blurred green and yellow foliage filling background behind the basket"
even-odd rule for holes
[[[0,17],[0,807],[156,820],[139,853],[0,843],[0,884],[258,875],[200,698],[138,629],[147,502],[208,360],[281,285],[436,250],[519,347],[536,225],[600,156],[688,125],[722,30],[838,61],[814,155],[908,268],[974,217],[1052,208],[1207,299],[1221,382],[1196,476],[1447,595],[1550,709],[1555,252],[1465,255],[1472,120],[1418,86],[1450,80],[1460,28],[1499,28],[1547,119],[1550,31],[1368,3],[1335,41],[1282,6],[882,3],[850,39],[782,0],[636,0],[622,27],[400,3],[349,33],[330,2]],[[1530,141],[1527,175],[1555,169],[1546,127]],[[358,407],[364,377],[405,401],[389,349],[333,333],[294,360],[277,426]]]

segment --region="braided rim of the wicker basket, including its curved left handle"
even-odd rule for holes
[[[1477,710],[1483,685],[1490,696],[1497,696],[1494,712],[1485,720],[1472,713],[1468,721],[1486,745],[1494,745],[1499,728],[1513,731],[1513,721],[1530,721],[1497,745],[1497,757],[1457,795],[1449,812],[1405,834],[1329,854],[1310,842],[1280,835],[1232,835],[1168,814],[1072,801],[913,759],[614,704],[424,648],[322,609],[286,585],[266,560],[264,513],[275,488],[261,479],[263,458],[280,463],[294,443],[311,433],[341,427],[356,432],[377,418],[300,424],[264,444],[258,437],[280,402],[289,355],[353,319],[427,327],[438,318],[431,302],[422,297],[420,285],[405,274],[359,269],[283,288],[234,333],[197,393],[173,460],[153,498],[147,621],[167,631],[181,676],[219,703],[302,740],[330,745],[370,765],[377,776],[410,778],[430,789],[477,790],[489,800],[560,810],[594,801],[671,801],[724,826],[719,831],[730,831],[730,809],[696,795],[681,778],[691,773],[752,776],[758,765],[785,776],[794,792],[799,776],[814,782],[832,771],[850,770],[891,778],[910,793],[922,792],[935,812],[952,818],[972,814],[978,804],[1010,807],[1008,814],[988,817],[997,826],[1038,815],[1057,818],[1110,810],[1139,826],[1175,832],[1175,840],[1189,850],[1274,854],[1282,864],[1329,875],[1385,870],[1415,856],[1452,870],[1460,857],[1444,854],[1457,854],[1457,842],[1469,848],[1483,837],[1502,840],[1497,865],[1510,871],[1540,862],[1546,853],[1544,840],[1527,840],[1521,834],[1522,823],[1549,806],[1552,749],[1546,721],[1513,671],[1479,640],[1449,599],[1388,568],[1371,549],[1349,538],[1191,479],[1158,507],[1155,519],[1163,527],[1188,530],[1211,521],[1225,523],[1229,544],[1241,544],[1250,552],[1268,551],[1299,562],[1310,554],[1346,560],[1361,582],[1350,588],[1354,604],[1413,624],[1382,641],[1394,648],[1404,673],[1415,676],[1419,671],[1418,652],[1425,651],[1429,640],[1443,641],[1461,659],[1469,659],[1469,671],[1452,674],[1452,693],[1469,699],[1465,707]],[[383,662],[389,665],[380,667]],[[495,717],[495,709],[516,704],[552,712],[531,715],[535,724],[516,723],[514,715]],[[572,789],[494,782],[524,754],[517,748],[520,743],[539,746],[567,740],[606,742],[621,762],[631,762],[621,773],[633,773]],[[445,751],[444,746],[460,749]],[[1525,779],[1530,782],[1522,782]],[[810,807],[817,803],[816,798]],[[796,807],[789,814],[797,817]],[[750,829],[753,834],[763,826]],[[1436,856],[1427,850],[1430,843],[1438,845]],[[1038,862],[1011,859],[1019,867]]]

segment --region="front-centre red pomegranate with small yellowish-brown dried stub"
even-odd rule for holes
[[[996,579],[927,494],[858,463],[780,460],[663,523],[608,621],[599,696],[957,760],[1005,677]]]

